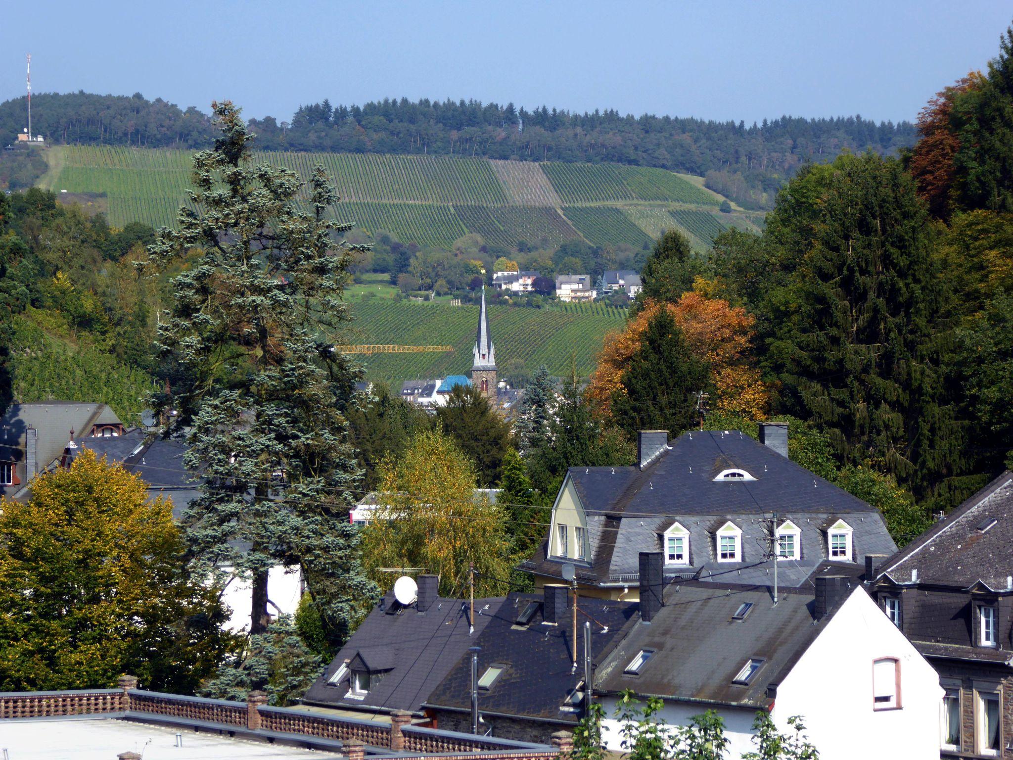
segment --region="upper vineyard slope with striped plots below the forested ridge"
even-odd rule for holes
[[[189,182],[188,151],[57,146],[41,184],[85,194],[109,221],[172,225]],[[450,156],[257,152],[256,162],[309,176],[320,164],[342,201],[337,213],[369,234],[448,248],[469,232],[487,243],[640,248],[680,227],[706,248],[728,226],[757,229],[762,215],[722,214],[721,197],[666,169],[622,164],[535,163]]]

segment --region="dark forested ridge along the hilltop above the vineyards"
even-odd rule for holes
[[[24,98],[0,103],[0,134],[24,121]],[[51,142],[199,148],[213,133],[207,115],[140,93],[43,93],[32,102],[32,129]],[[744,208],[773,208],[784,181],[806,161],[833,160],[842,150],[892,154],[914,145],[909,122],[861,117],[782,117],[747,126],[615,109],[593,113],[479,100],[406,98],[332,106],[301,106],[290,122],[251,120],[261,150],[417,153],[561,162],[615,162],[706,176],[707,186]]]

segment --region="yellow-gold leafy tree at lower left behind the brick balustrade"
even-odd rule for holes
[[[192,692],[232,644],[218,590],[193,578],[172,505],[85,449],[0,502],[0,689]]]

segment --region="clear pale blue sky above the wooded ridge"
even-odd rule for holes
[[[291,119],[383,97],[616,108],[747,124],[782,115],[914,120],[985,69],[1009,0],[7,2],[0,100],[162,97]]]

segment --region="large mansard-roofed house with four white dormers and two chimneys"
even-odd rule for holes
[[[536,586],[572,563],[581,593],[634,600],[638,557],[663,551],[666,578],[793,588],[826,566],[860,572],[895,551],[879,512],[788,459],[787,425],[641,431],[638,464],[571,467],[531,560]],[[776,554],[776,558],[775,558]]]

